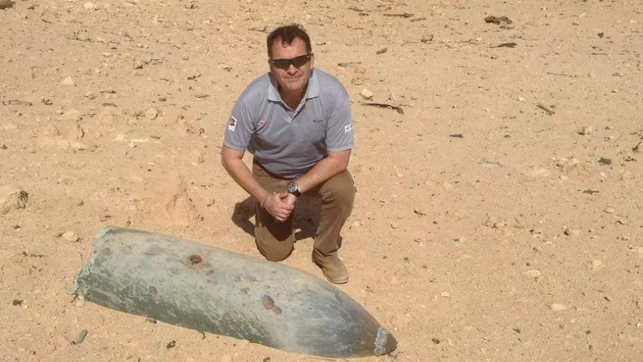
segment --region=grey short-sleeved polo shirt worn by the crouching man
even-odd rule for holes
[[[343,85],[313,69],[296,110],[281,100],[270,73],[241,93],[226,125],[224,144],[254,154],[272,174],[293,179],[311,169],[327,152],[353,148],[353,116]]]

